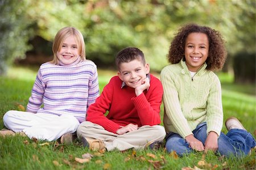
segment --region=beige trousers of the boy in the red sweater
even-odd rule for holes
[[[77,136],[87,139],[102,140],[106,149],[112,151],[128,150],[130,148],[143,149],[148,142],[162,142],[166,136],[163,126],[142,126],[138,130],[127,132],[123,135],[114,134],[104,129],[104,127],[92,122],[82,122],[77,128]]]

